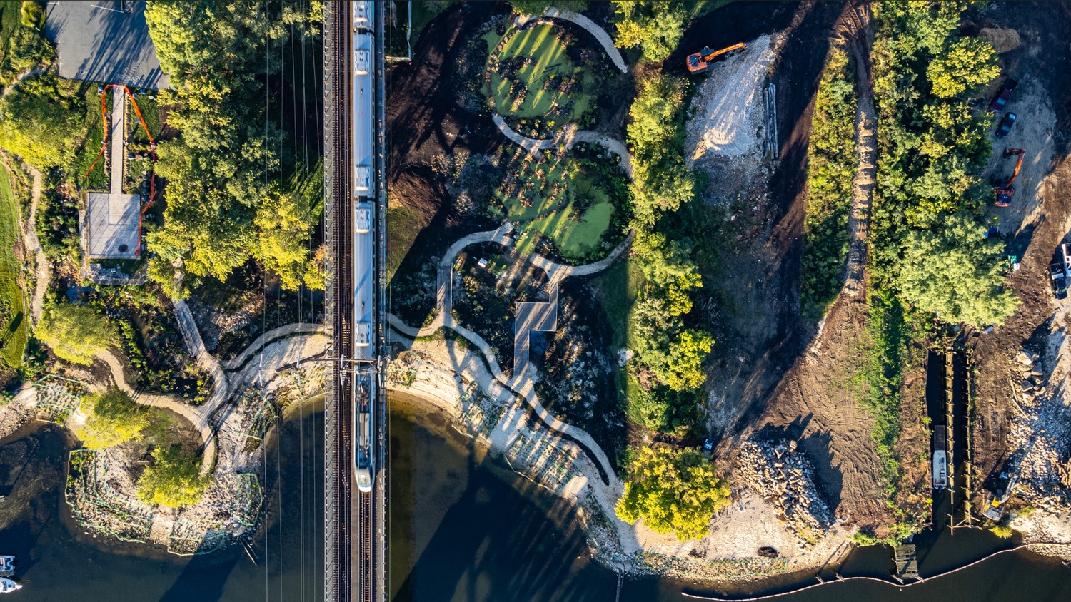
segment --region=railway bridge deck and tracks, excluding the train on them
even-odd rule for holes
[[[384,108],[383,87],[384,53],[383,3],[373,3],[375,10],[375,82],[377,88],[374,111],[375,153],[374,179],[377,207],[377,272],[376,329],[373,334],[375,356],[381,357],[383,350],[382,324],[386,313],[386,164],[384,164]],[[367,353],[360,352],[355,321],[355,267],[358,249],[355,248],[355,163],[352,137],[355,136],[353,81],[355,38],[352,2],[329,2],[325,6],[325,76],[327,94],[325,102],[328,113],[326,142],[328,157],[326,165],[326,194],[330,216],[326,218],[331,249],[330,290],[332,328],[335,341],[333,374],[327,396],[327,475],[325,479],[328,504],[325,516],[325,600],[331,602],[382,602],[386,600],[386,491],[381,467],[386,460],[386,402],[383,399],[382,370],[378,359],[372,360]],[[365,230],[366,232],[366,230]],[[361,303],[361,308],[364,302]],[[355,423],[358,412],[358,390],[353,383],[356,373],[371,373],[378,386],[372,387],[375,433],[373,434],[374,487],[372,492],[356,490],[353,458],[356,438],[359,436]]]

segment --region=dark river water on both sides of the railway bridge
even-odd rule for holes
[[[617,573],[591,560],[568,507],[498,461],[482,458],[442,416],[414,404],[395,406],[402,412],[392,412],[389,425],[393,601],[653,602],[690,600],[682,589],[704,591],[696,584],[653,577],[619,584]],[[0,465],[0,488],[11,488],[0,504],[0,552],[18,556],[18,578],[26,586],[12,600],[321,599],[322,433],[323,415],[313,408],[290,416],[277,443],[269,441],[269,484],[282,495],[269,496],[270,527],[254,542],[256,566],[240,549],[178,558],[85,536],[62,499],[67,435],[37,426],[0,442],[0,461],[30,454],[25,470],[11,462]],[[1006,545],[967,529],[931,538],[920,553],[923,576]],[[841,574],[881,575],[888,561],[883,549],[861,549]],[[767,590],[798,586],[765,584]],[[1071,600],[1071,569],[1015,552],[904,590],[845,582],[778,600]]]

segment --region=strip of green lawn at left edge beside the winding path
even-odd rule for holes
[[[21,264],[15,259],[17,219],[18,206],[11,188],[11,174],[0,168],[0,361],[12,368],[22,364],[28,336],[26,306],[18,285]]]

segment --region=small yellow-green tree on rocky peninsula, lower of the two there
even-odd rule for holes
[[[200,501],[208,479],[200,476],[198,458],[182,451],[181,445],[152,452],[154,464],[146,467],[138,481],[137,497],[152,506],[179,508]]]

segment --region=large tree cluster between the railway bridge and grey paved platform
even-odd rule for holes
[[[225,279],[251,257],[284,288],[321,280],[307,244],[319,215],[277,184],[286,135],[268,118],[278,92],[265,90],[281,68],[281,45],[315,31],[315,18],[311,9],[257,2],[147,5],[149,33],[175,84],[161,101],[178,107],[168,121],[181,132],[160,145],[167,204],[163,227],[146,236],[149,275],[168,295],[182,297],[205,277]]]

